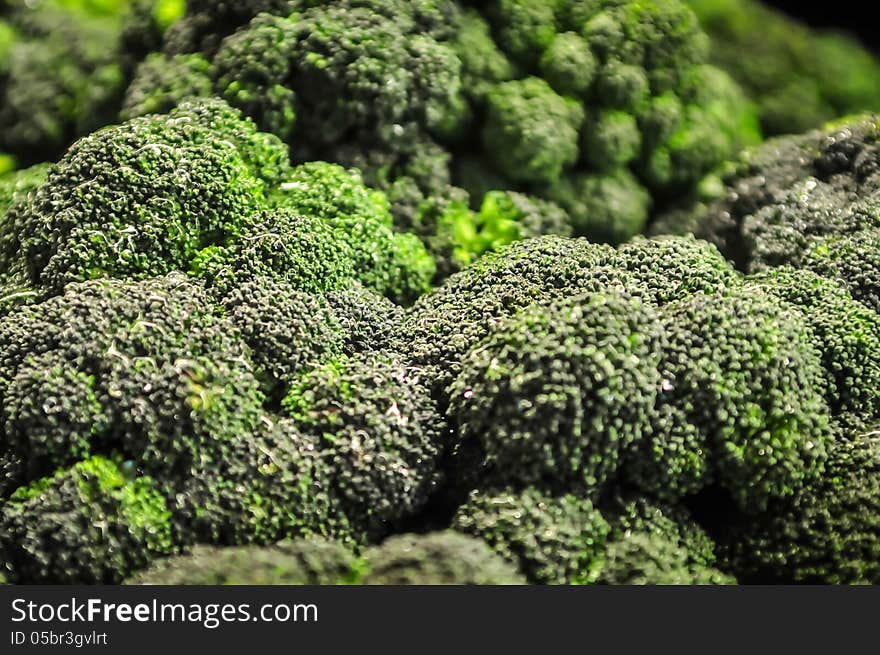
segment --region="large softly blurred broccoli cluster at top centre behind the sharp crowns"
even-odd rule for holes
[[[122,116],[218,95],[358,167],[439,281],[518,238],[625,241],[755,143],[707,45],[679,0],[190,2]]]

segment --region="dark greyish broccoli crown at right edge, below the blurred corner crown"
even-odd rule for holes
[[[746,272],[811,269],[880,310],[878,134],[876,117],[848,119],[746,152],[698,236]]]

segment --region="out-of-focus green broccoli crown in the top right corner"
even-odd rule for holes
[[[758,106],[768,135],[880,108],[880,64],[855,39],[816,31],[755,0],[687,0],[710,58]]]

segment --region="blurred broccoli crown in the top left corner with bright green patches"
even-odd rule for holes
[[[112,122],[127,83],[125,7],[107,9],[45,0],[0,10],[0,152],[36,164]]]

